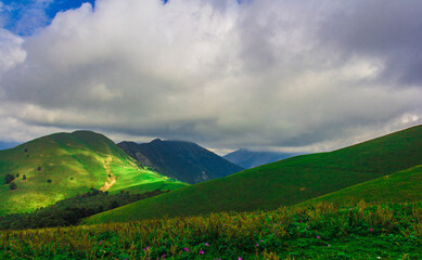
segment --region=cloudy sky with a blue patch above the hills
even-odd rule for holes
[[[0,1],[0,143],[330,151],[422,122],[419,0]]]

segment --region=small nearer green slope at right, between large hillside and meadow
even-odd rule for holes
[[[361,199],[371,204],[422,200],[422,166],[346,187],[297,206],[315,206],[319,203],[354,206]]]

